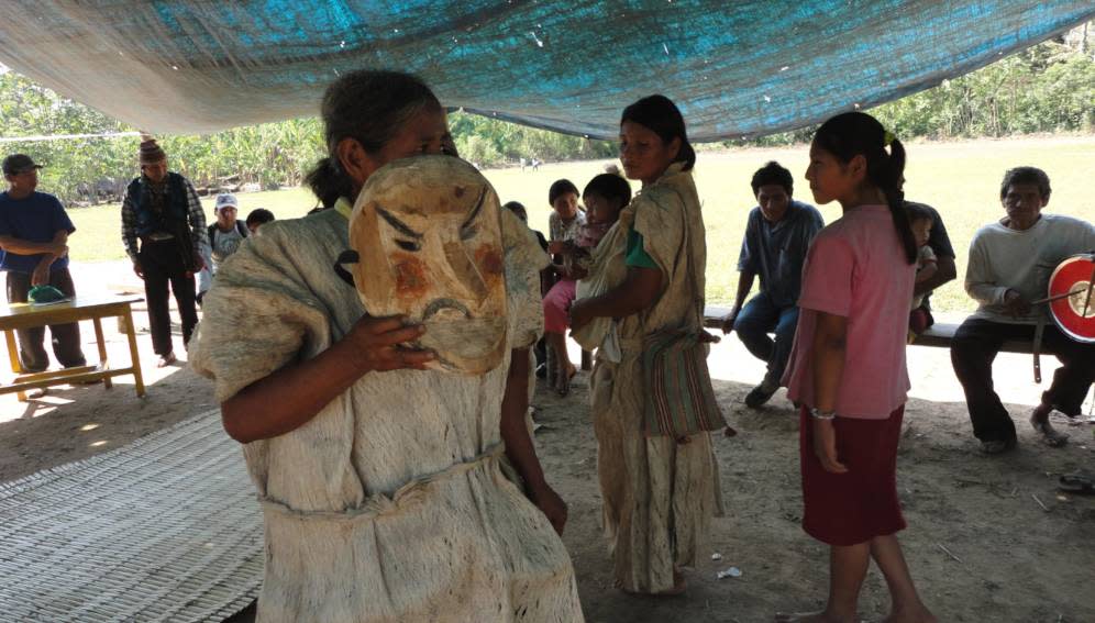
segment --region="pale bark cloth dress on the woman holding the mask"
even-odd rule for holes
[[[511,347],[543,331],[548,257],[502,214]],[[263,225],[221,267],[191,366],[229,399],[363,314],[333,265],[346,216]],[[562,539],[499,467],[509,368],[366,374],[299,429],[243,446],[266,526],[258,621],[582,621]]]

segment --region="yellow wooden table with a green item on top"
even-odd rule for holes
[[[26,400],[26,390],[55,385],[101,380],[107,389],[110,379],[117,376],[133,375],[139,397],[144,396],[144,379],[141,376],[141,357],[136,348],[136,334],[133,332],[133,313],[130,305],[143,300],[141,297],[77,296],[71,301],[46,305],[13,303],[0,305],[0,331],[8,343],[8,356],[15,380],[11,385],[0,385],[0,394],[19,392],[19,400]],[[102,338],[102,319],[122,316],[125,319],[125,334],[130,342],[130,366],[111,368],[107,361],[107,344]],[[65,324],[90,320],[95,324],[95,337],[99,345],[99,365],[80,366],[44,372],[22,374],[19,364],[19,346],[15,330],[33,329],[48,324]]]

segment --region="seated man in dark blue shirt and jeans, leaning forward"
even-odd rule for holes
[[[757,408],[779,389],[798,324],[803,263],[825,222],[816,208],[792,200],[790,171],[778,163],[753,174],[752,187],[757,207],[749,213],[738,257],[738,296],[722,321],[722,332],[737,331],[745,348],[767,361],[764,380],[745,397],[745,404]],[[761,292],[742,308],[757,275]],[[768,337],[773,330],[775,341]]]

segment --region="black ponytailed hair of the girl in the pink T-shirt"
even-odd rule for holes
[[[905,176],[905,146],[902,142],[886,132],[878,120],[870,114],[845,112],[822,123],[814,135],[814,144],[844,164],[855,156],[863,156],[866,160],[866,179],[886,197],[894,229],[905,247],[905,258],[909,264],[915,264],[918,249],[905,210],[905,192],[902,191]]]

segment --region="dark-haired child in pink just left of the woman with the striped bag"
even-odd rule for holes
[[[620,210],[631,201],[631,186],[618,175],[601,174],[586,185],[582,199],[586,204],[586,222],[575,230],[569,240],[553,240],[548,245],[549,253],[562,257],[562,264],[556,265],[562,278],[544,297],[544,337],[554,354],[555,390],[560,396],[569,393],[571,377],[577,371],[566,353],[566,330],[576,280],[585,277],[589,268],[589,252],[616,224]]]

